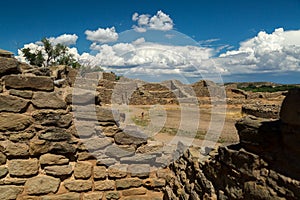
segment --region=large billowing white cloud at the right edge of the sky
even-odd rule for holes
[[[241,42],[238,50],[227,51],[216,60],[232,74],[300,71],[299,38],[300,30],[261,31]]]

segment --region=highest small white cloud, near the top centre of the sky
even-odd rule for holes
[[[170,16],[161,10],[152,17],[148,14],[139,15],[138,13],[134,13],[132,20],[137,22],[137,25],[132,26],[137,32],[145,32],[147,29],[168,31],[172,30],[174,26]]]

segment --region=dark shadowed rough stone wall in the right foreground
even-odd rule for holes
[[[208,156],[190,148],[170,165],[165,199],[300,199],[300,90],[283,102],[280,120],[246,116],[240,143]]]

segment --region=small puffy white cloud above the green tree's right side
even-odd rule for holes
[[[119,37],[115,27],[98,28],[96,31],[86,30],[85,34],[88,40],[99,43],[115,42]]]

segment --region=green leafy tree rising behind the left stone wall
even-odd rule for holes
[[[21,51],[24,57],[31,65],[39,67],[51,65],[68,65],[73,68],[79,68],[81,65],[76,61],[73,54],[68,52],[68,47],[62,44],[52,45],[47,38],[41,40],[43,50],[36,50],[34,53],[29,48],[23,48]]]

